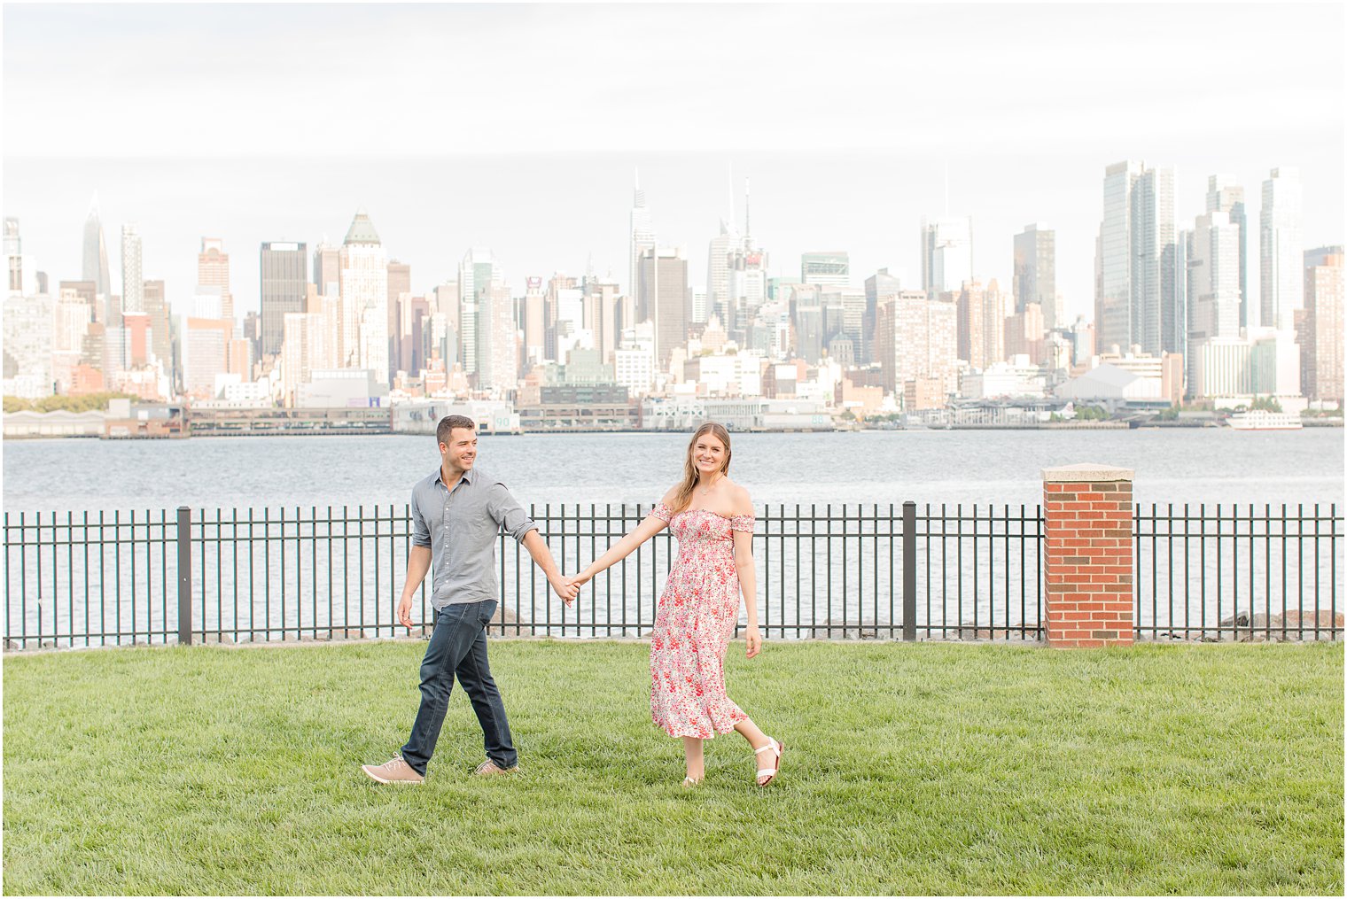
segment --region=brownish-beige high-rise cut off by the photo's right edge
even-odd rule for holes
[[[1343,248],[1305,253],[1305,310],[1297,330],[1300,386],[1311,400],[1343,401]]]

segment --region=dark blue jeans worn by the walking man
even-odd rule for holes
[[[453,603],[435,615],[426,658],[422,659],[422,703],[403,758],[416,774],[426,777],[426,764],[435,754],[435,740],[445,724],[454,677],[463,685],[485,736],[486,758],[498,767],[512,768],[519,754],[511,744],[509,723],[501,693],[486,663],[486,624],[496,612],[496,600]]]

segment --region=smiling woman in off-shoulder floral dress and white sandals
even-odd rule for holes
[[[738,731],[757,758],[757,785],[766,786],[785,747],[749,720],[725,694],[725,649],[748,604],[748,657],[762,649],[753,568],[753,502],[730,480],[730,435],[715,423],[696,429],[687,445],[683,480],[651,514],[577,577],[578,584],[626,556],[665,525],[679,541],[651,633],[651,716],[669,736],[683,738],[687,777],[706,774],[702,742]]]

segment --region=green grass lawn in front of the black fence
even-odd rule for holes
[[[497,641],[521,774],[424,643],[4,658],[7,894],[1342,894],[1342,645],[731,645],[691,791],[640,643]]]

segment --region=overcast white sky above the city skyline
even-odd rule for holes
[[[79,276],[97,191],[113,280],[191,295],[222,237],[241,310],[261,241],[339,240],[365,206],[412,285],[470,245],[525,275],[626,280],[640,166],[660,242],[695,284],[753,184],[773,273],[851,253],[920,280],[919,227],[974,219],[1009,280],[1026,222],[1057,229],[1057,284],[1091,314],[1103,168],[1206,179],[1299,166],[1307,246],[1344,240],[1344,15],[1328,4],[4,5],[4,214],[53,283]],[[742,196],[735,196],[742,221]],[[1250,284],[1257,284],[1257,269]]]

